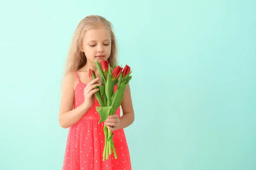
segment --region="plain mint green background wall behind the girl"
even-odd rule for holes
[[[133,170],[256,169],[253,0],[1,1],[0,170],[61,170],[61,76],[87,15],[133,70]]]

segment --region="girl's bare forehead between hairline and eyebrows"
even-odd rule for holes
[[[105,29],[105,28],[90,29],[85,32],[84,40],[105,41],[105,40],[111,40],[111,36],[108,29]]]

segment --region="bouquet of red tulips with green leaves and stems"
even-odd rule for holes
[[[96,107],[96,111],[100,115],[99,123],[104,122],[108,116],[114,114],[121,105],[124,90],[126,85],[131,80],[131,68],[128,65],[125,65],[125,68],[118,66],[113,66],[113,70],[111,69],[108,60],[105,61],[102,59],[102,62],[99,63],[98,60],[94,62],[97,69],[99,70],[100,77],[102,80],[102,85],[96,86],[95,88],[99,88],[99,91],[95,93],[95,97],[99,102],[99,107]],[[96,79],[95,72],[90,69],[89,70],[90,79]],[[117,85],[117,89],[114,92],[114,87]],[[105,134],[105,146],[103,151],[103,161],[109,158],[109,155],[113,153],[115,159],[117,159],[115,146],[113,143],[113,135],[107,128],[106,125],[103,127],[103,131]]]

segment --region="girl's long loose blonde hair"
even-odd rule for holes
[[[89,15],[82,19],[78,26],[76,27],[76,31],[73,35],[70,49],[67,56],[67,63],[65,68],[64,76],[69,74],[70,72],[77,71],[82,68],[87,59],[80,49],[82,47],[83,35],[86,31],[93,28],[104,27],[107,28],[111,35],[111,54],[108,58],[108,62],[111,67],[113,67],[114,63],[117,65],[117,45],[116,45],[116,36],[113,32],[113,25],[111,22],[106,20],[104,17],[99,15]]]

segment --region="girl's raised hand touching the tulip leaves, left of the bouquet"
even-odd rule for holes
[[[95,93],[99,91],[99,88],[94,89],[96,86],[100,86],[100,83],[95,84],[99,80],[99,77],[90,81],[84,88],[84,105],[87,108],[93,106]]]

